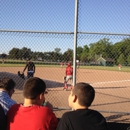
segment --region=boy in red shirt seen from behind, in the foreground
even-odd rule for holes
[[[42,106],[45,89],[46,84],[40,78],[32,77],[25,82],[24,103],[13,105],[8,111],[7,130],[56,130],[58,120],[55,114]]]

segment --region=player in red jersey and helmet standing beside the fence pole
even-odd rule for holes
[[[65,71],[66,76],[64,77],[64,88],[63,90],[68,89],[68,81],[71,81],[71,89],[72,89],[72,83],[73,83],[73,67],[71,67],[71,63],[67,64],[66,71]]]

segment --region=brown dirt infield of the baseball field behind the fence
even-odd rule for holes
[[[17,71],[22,70],[22,67],[0,68],[0,78],[9,75],[17,82],[17,90],[12,98],[18,103],[23,102],[24,80],[17,76]],[[70,91],[62,90],[64,75],[65,68],[60,67],[37,67],[35,73],[35,76],[46,81],[49,90],[46,100],[53,104],[57,117],[61,117],[63,112],[71,110],[67,101]],[[76,80],[77,82],[90,83],[95,88],[96,97],[91,108],[100,111],[107,121],[130,122],[130,73],[79,68]]]

